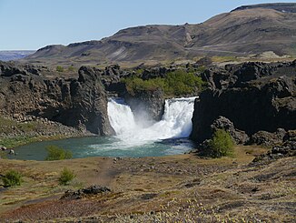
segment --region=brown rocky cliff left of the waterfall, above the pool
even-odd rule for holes
[[[78,79],[42,76],[35,66],[0,63],[0,110],[6,116],[43,117],[101,136],[112,135],[100,77],[81,67]]]

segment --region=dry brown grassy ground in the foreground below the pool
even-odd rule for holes
[[[295,157],[252,165],[265,152],[236,147],[235,157],[194,154],[88,157],[62,161],[0,160],[0,174],[21,171],[22,186],[0,187],[0,222],[294,222]],[[64,167],[76,177],[59,186]],[[68,189],[111,192],[60,199]]]

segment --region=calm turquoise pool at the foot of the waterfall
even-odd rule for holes
[[[9,158],[24,160],[44,160],[46,147],[55,145],[69,149],[74,158],[79,157],[163,157],[183,154],[192,149],[193,144],[186,138],[147,142],[141,146],[121,147],[116,137],[81,137],[32,143],[16,147],[16,156]]]

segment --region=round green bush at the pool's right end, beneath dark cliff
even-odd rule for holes
[[[211,157],[231,157],[233,155],[232,136],[223,129],[218,129],[213,133],[209,143]]]

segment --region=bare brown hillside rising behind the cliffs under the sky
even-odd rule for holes
[[[241,6],[201,24],[126,28],[100,41],[45,46],[25,62],[108,64],[166,62],[197,56],[296,55],[296,4]]]

